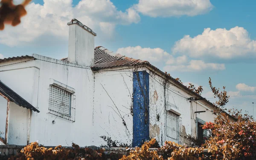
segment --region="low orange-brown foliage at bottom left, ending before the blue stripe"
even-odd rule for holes
[[[120,154],[105,154],[104,149],[80,148],[75,143],[72,148],[64,148],[61,145],[55,148],[45,148],[37,142],[26,145],[16,156],[9,160],[118,160]]]

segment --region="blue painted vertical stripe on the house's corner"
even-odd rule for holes
[[[149,140],[149,74],[133,73],[133,147]]]

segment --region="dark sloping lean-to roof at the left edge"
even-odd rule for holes
[[[16,103],[17,105],[31,109],[35,112],[40,112],[38,109],[33,107],[29,102],[27,102],[25,99],[23,99],[21,96],[19,96],[15,91],[13,91],[11,88],[3,84],[2,81],[0,81],[0,93],[3,94],[3,96],[6,96],[10,101]]]

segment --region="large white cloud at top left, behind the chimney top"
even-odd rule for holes
[[[30,3],[26,9],[28,14],[21,18],[20,25],[6,25],[0,34],[1,44],[17,46],[47,34],[67,38],[67,22],[74,17],[98,32],[99,36],[110,36],[118,24],[140,21],[134,9],[118,11],[110,0],[81,0],[76,6],[72,6],[72,0],[44,0],[44,5]]]

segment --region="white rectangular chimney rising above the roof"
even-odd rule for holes
[[[69,26],[68,61],[92,67],[94,62],[94,36],[92,29],[73,18]]]

